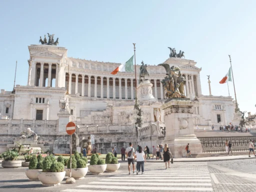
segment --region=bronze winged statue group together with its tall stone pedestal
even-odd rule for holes
[[[185,146],[193,153],[201,153],[200,140],[196,138],[193,129],[192,102],[184,95],[185,79],[177,66],[169,67],[169,64],[158,64],[165,68],[166,75],[161,81],[168,98],[161,109],[164,110],[165,137],[163,143],[167,143],[174,157],[186,156]]]

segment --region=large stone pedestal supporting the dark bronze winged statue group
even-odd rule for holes
[[[200,140],[195,136],[192,119],[192,102],[189,98],[169,98],[161,106],[164,110],[165,138],[174,157],[185,157],[189,143],[191,153],[201,153]]]

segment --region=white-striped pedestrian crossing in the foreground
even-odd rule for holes
[[[170,166],[171,168],[165,169],[159,167],[158,163],[148,166],[145,164],[144,174],[121,173],[62,192],[213,191],[206,163],[176,163]],[[186,166],[187,171],[180,171]]]

